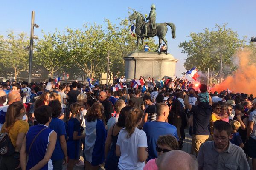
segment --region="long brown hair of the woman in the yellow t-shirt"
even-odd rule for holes
[[[21,116],[24,112],[25,108],[22,102],[13,102],[9,105],[5,117],[5,127],[11,127],[15,123],[16,118]]]

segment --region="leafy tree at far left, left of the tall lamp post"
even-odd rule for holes
[[[29,38],[25,33],[18,36],[10,31],[5,39],[0,36],[0,63],[4,68],[9,68],[9,73],[14,74],[15,80],[21,71],[28,69],[29,53],[25,47],[29,45]]]

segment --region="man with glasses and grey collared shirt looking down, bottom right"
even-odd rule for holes
[[[199,170],[250,170],[244,151],[229,141],[232,137],[231,125],[217,120],[213,141],[201,144],[197,157]]]

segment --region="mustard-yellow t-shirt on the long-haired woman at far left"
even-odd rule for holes
[[[24,120],[17,120],[13,126],[9,129],[9,136],[13,147],[16,149],[16,141],[19,133],[27,133],[29,130],[29,124]],[[1,133],[6,132],[5,123],[1,129]]]

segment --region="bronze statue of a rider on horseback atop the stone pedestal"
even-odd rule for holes
[[[156,23],[156,16],[157,16],[156,7],[154,4],[152,4],[150,8],[151,8],[151,11],[149,13],[149,16],[146,18],[146,20],[149,20],[149,22],[147,23],[145,22],[145,17],[143,16],[143,14],[136,12],[135,10],[134,10],[134,13],[131,14],[131,16],[129,17],[129,20],[131,21],[132,24],[134,24],[134,20],[136,20],[136,23],[134,24],[134,26],[135,26],[135,34],[137,35],[137,49],[139,49],[140,39],[142,41],[142,46],[144,47],[145,38],[158,36],[159,45],[156,52],[160,48],[163,40],[163,42],[166,44],[166,54],[167,54],[168,45],[167,45],[167,40],[165,38],[166,33],[168,31],[167,26],[171,27],[172,38],[175,39],[176,38],[175,25],[174,23]]]

